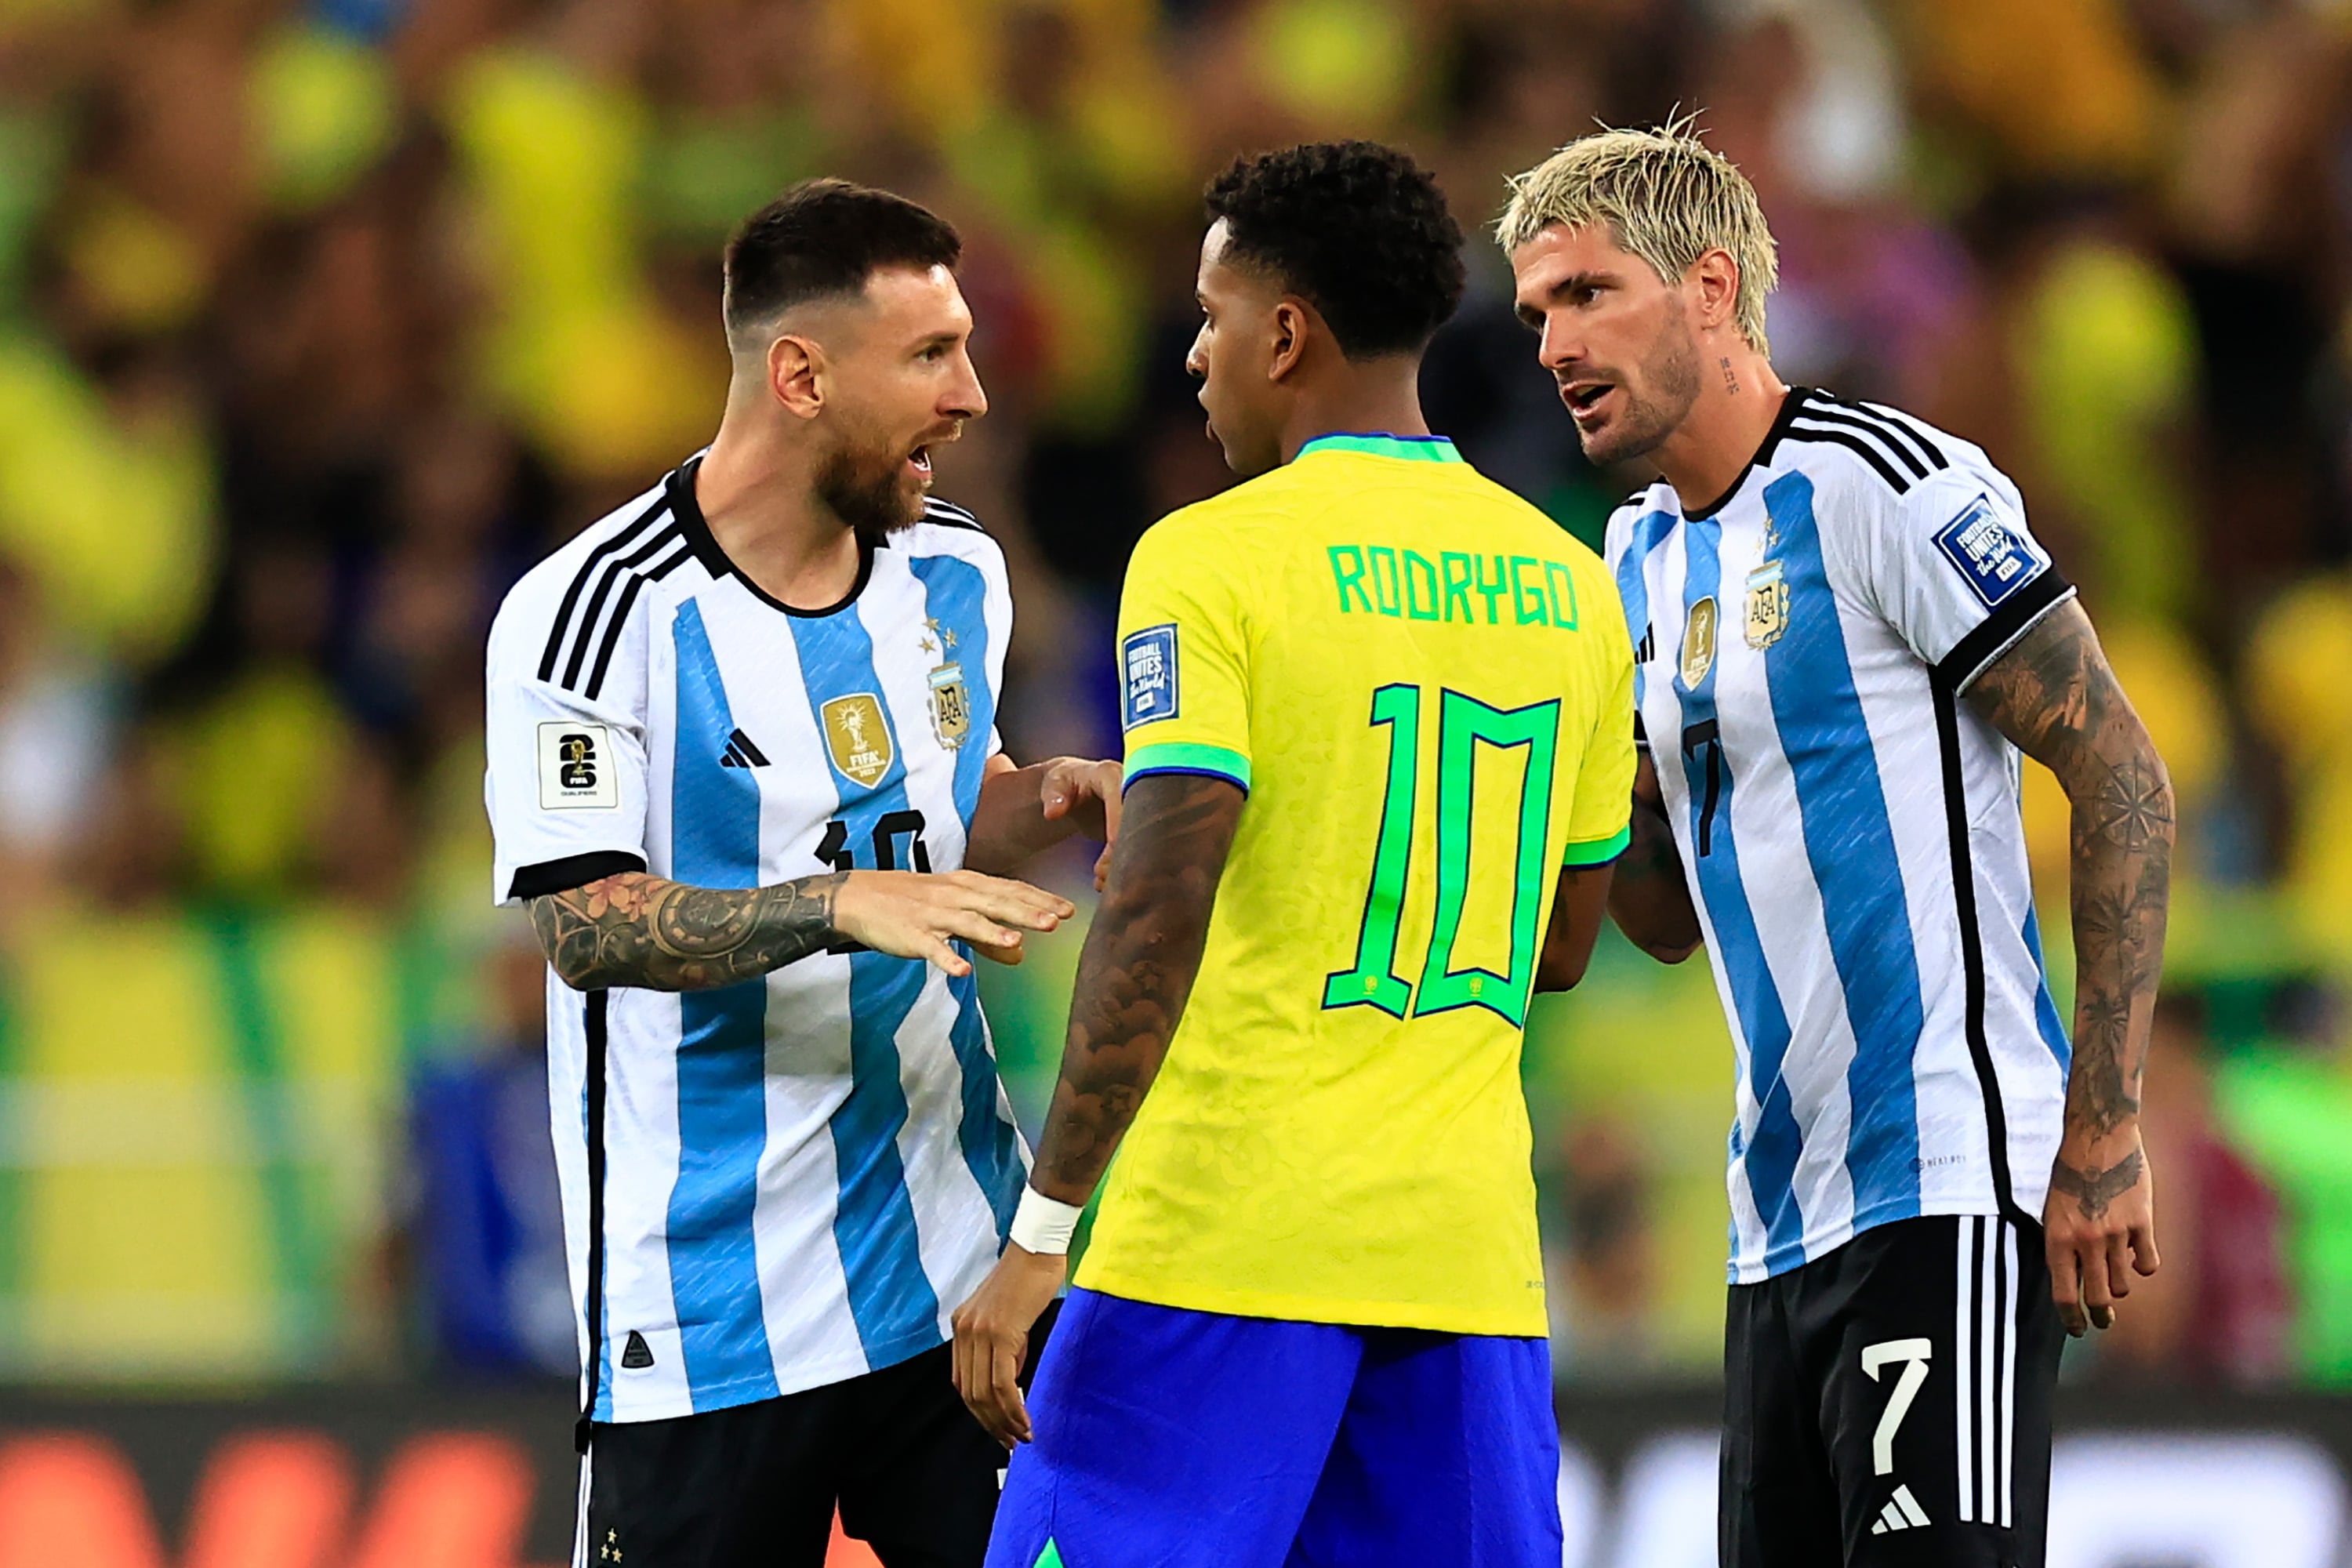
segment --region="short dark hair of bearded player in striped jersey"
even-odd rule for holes
[[[962,254],[962,235],[929,207],[847,179],[809,179],[743,219],[727,242],[727,331],[811,299],[858,294],[880,268],[953,268]]]

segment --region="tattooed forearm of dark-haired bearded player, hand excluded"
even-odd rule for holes
[[[564,985],[710,990],[764,976],[842,940],[842,875],[764,889],[699,889],[644,872],[532,900],[532,926]]]

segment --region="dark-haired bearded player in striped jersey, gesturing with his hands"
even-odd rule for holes
[[[1004,1455],[948,1375],[1028,1161],[974,990],[1073,907],[1011,870],[1117,811],[1016,769],[1011,599],[931,454],[988,402],[955,230],[842,181],[727,247],[710,449],[489,637],[496,896],[555,969],[581,1314],[576,1563],[981,1561]]]

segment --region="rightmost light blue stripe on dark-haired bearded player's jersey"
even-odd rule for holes
[[[955,752],[955,811],[971,830],[981,804],[981,776],[988,766],[988,733],[997,722],[997,696],[988,689],[988,581],[978,567],[953,555],[922,555],[908,562],[922,581],[924,602],[938,630],[955,635],[955,646],[941,646],[941,658],[964,665],[964,689],[971,703],[971,729]],[[997,1220],[997,1241],[1011,1232],[1014,1206],[1021,1201],[1021,1145],[1014,1126],[997,1117],[997,1058],[988,1048],[988,1025],[981,1023],[981,985],[974,976],[948,980],[955,997],[955,1025],[948,1044],[964,1079],[964,1119],[957,1135],[964,1166],[988,1197]]]

